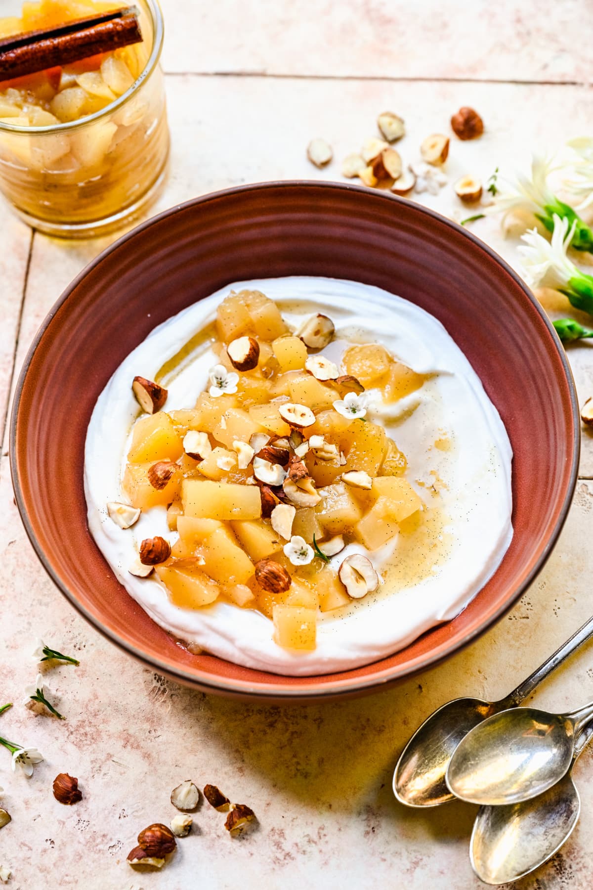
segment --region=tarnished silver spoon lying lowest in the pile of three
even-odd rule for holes
[[[568,773],[539,797],[520,804],[481,806],[469,843],[469,861],[485,884],[524,878],[548,862],[571,836],[581,813],[573,765],[593,738],[593,727],[574,742]]]

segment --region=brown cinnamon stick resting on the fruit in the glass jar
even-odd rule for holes
[[[68,65],[142,40],[135,7],[0,40],[0,81]]]

